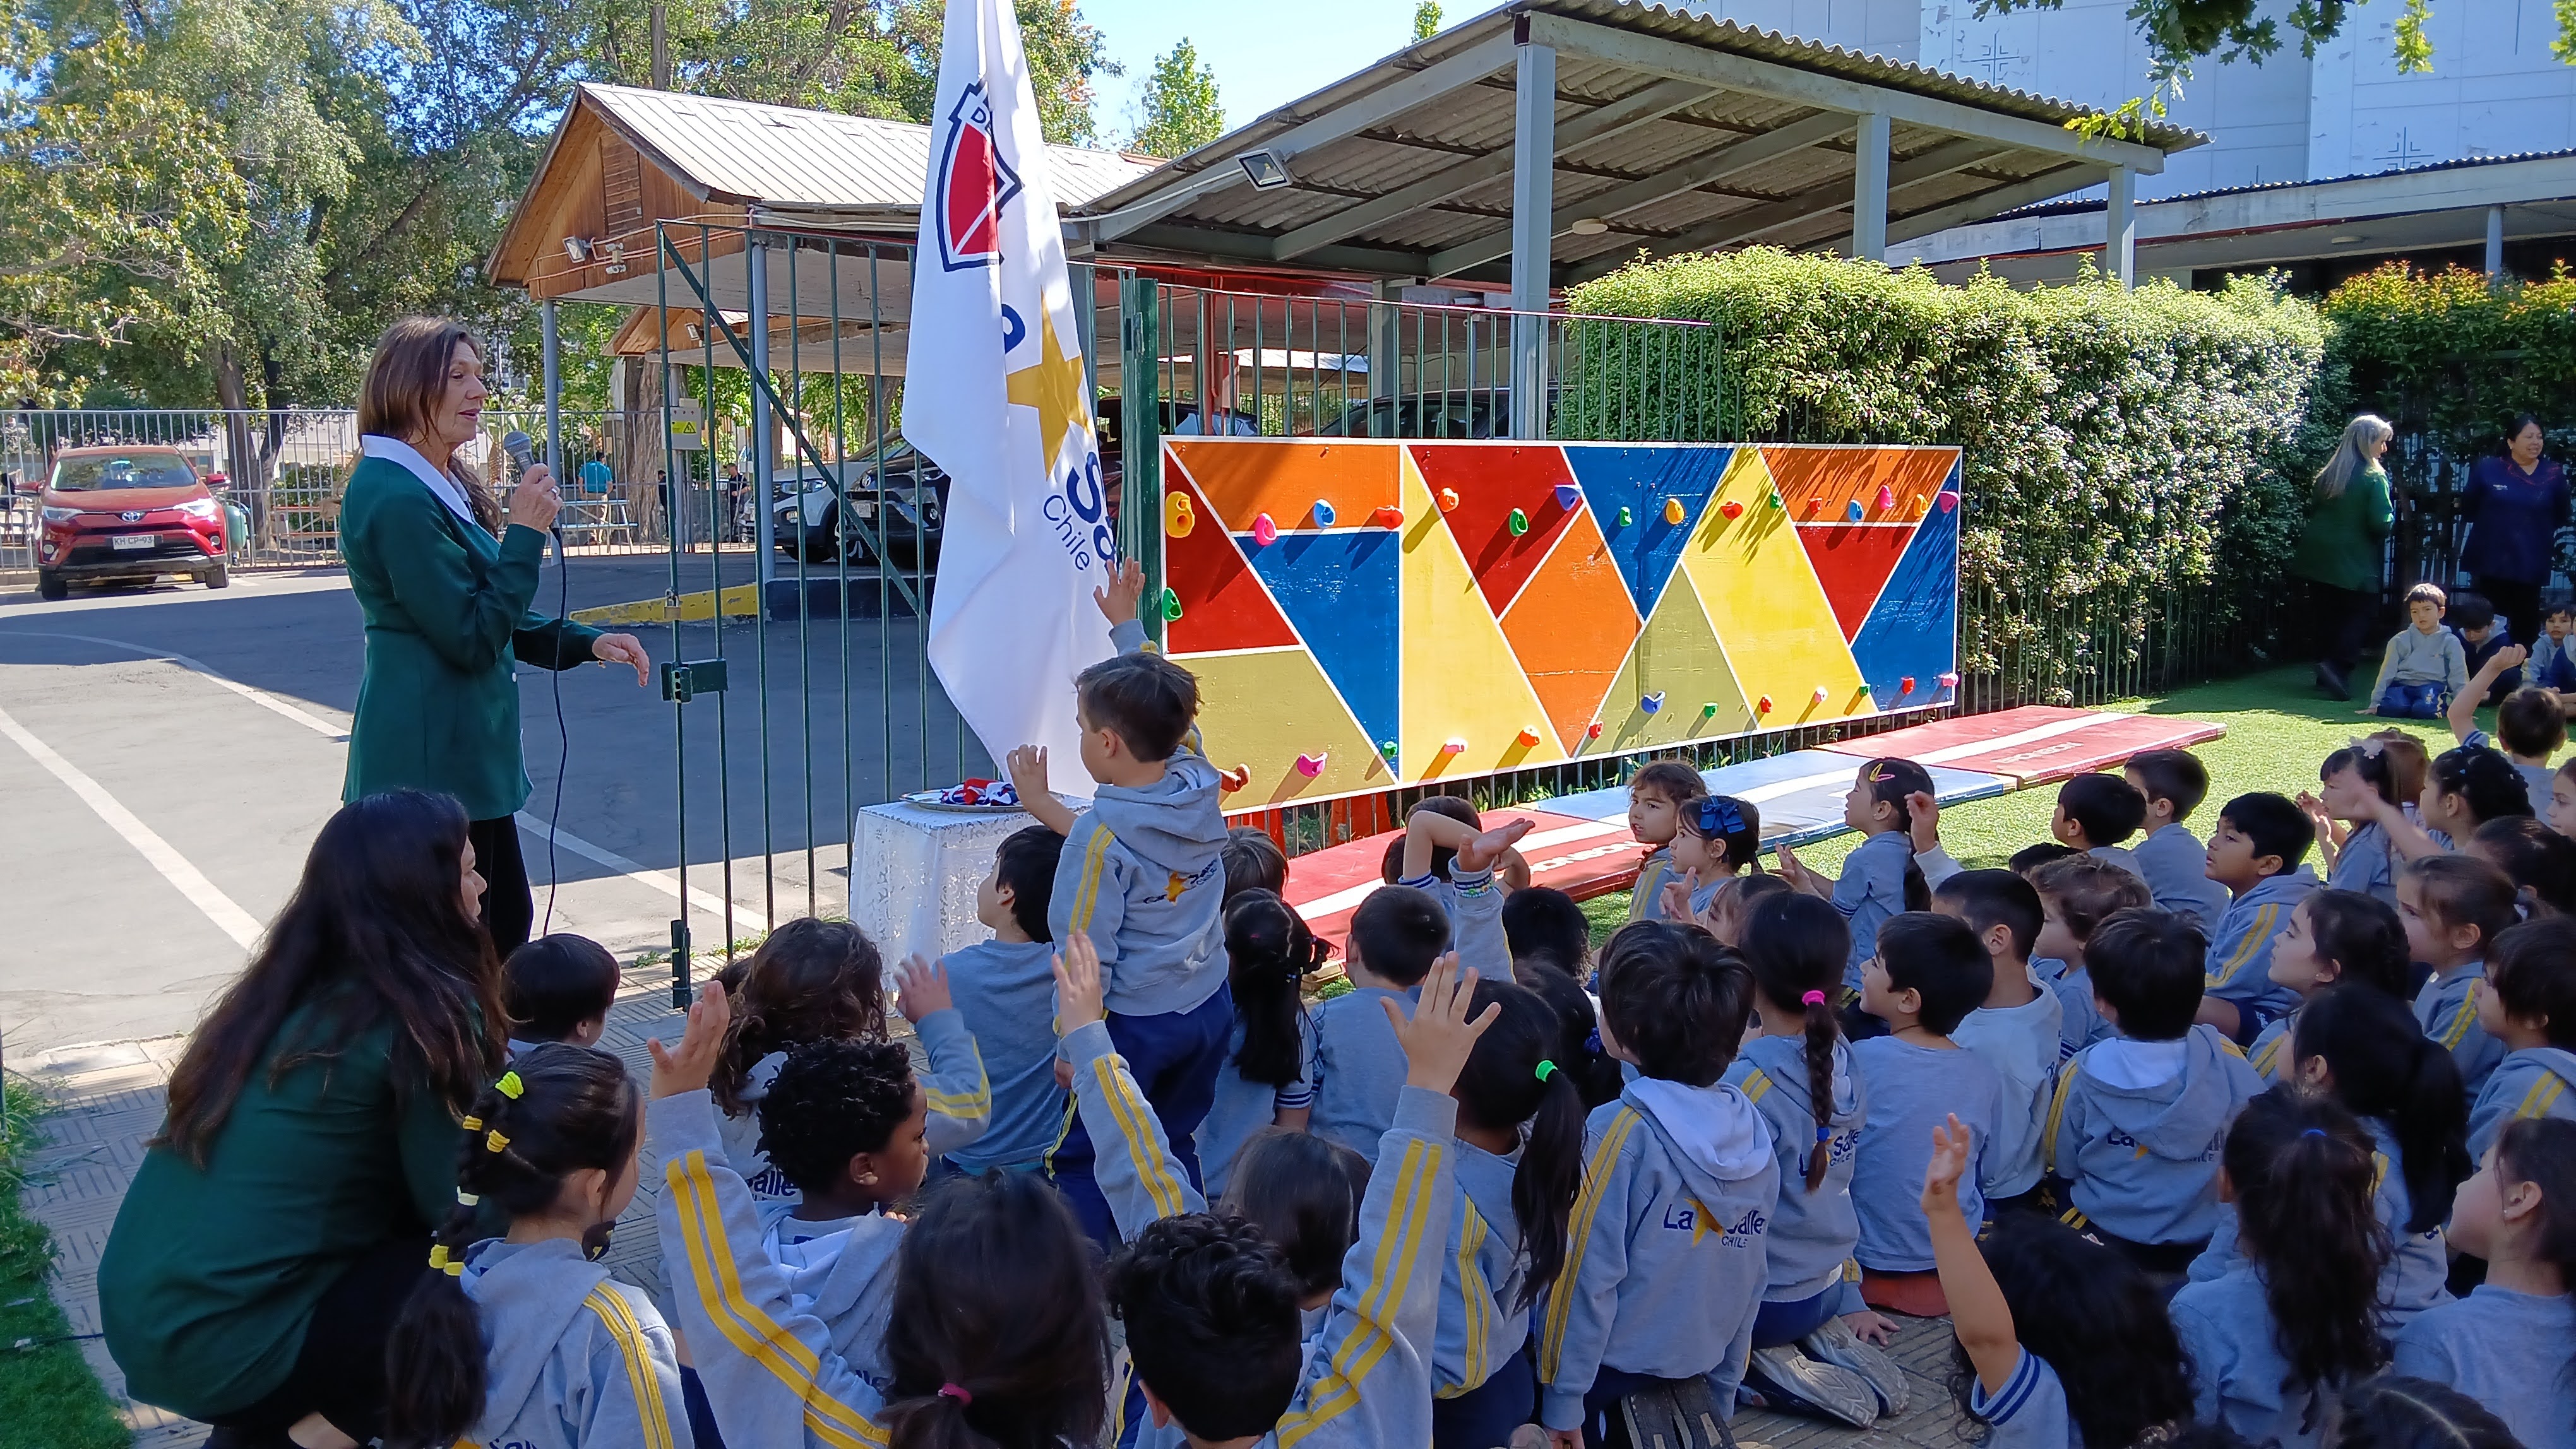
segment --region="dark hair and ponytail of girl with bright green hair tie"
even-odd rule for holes
[[[1566,1266],[1566,1225],[1584,1186],[1584,1096],[1556,1060],[1564,1027],[1553,1006],[1528,986],[1479,981],[1471,1011],[1484,1014],[1486,1004],[1499,1006],[1499,1017],[1476,1037],[1453,1096],[1458,1117],[1473,1127],[1528,1127],[1512,1168],[1512,1215],[1528,1253],[1515,1307],[1528,1307]]]

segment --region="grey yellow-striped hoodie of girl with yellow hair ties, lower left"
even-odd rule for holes
[[[680,1359],[639,1287],[572,1241],[474,1243],[459,1279],[484,1328],[487,1449],[690,1449]]]

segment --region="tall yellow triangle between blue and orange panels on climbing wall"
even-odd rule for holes
[[[1404,775],[1489,775],[1566,757],[1494,610],[1404,450]],[[1795,543],[1790,543],[1795,548]],[[1538,744],[1520,744],[1533,731]],[[1463,752],[1443,744],[1463,739]]]

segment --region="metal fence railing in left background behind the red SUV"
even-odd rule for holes
[[[487,409],[484,438],[466,461],[497,489],[510,486],[500,450],[505,432],[546,438],[541,409]],[[670,543],[670,499],[662,466],[662,412],[564,412],[564,538],[574,553],[659,553]],[[247,515],[237,566],[337,564],[340,492],[358,458],[358,414],[348,407],[307,409],[5,409],[0,412],[0,571],[36,566],[39,494],[64,448],[175,448]],[[690,497],[708,494],[734,461],[729,430],[708,430],[706,448],[677,453]],[[724,492],[721,486],[716,492]],[[734,517],[742,489],[726,497],[711,528],[688,543],[742,543]],[[683,520],[703,510],[683,507]]]

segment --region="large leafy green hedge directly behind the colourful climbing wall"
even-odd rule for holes
[[[1602,345],[1618,324],[1574,324],[1561,412],[1631,420],[1605,432],[1960,445],[1973,703],[2133,695],[2267,636],[2342,427],[2311,422],[2336,394],[2318,309],[2251,281],[2017,291],[1754,247],[1641,263],[1569,304],[1723,332],[1718,378],[1677,389],[1641,376],[1649,350]]]

